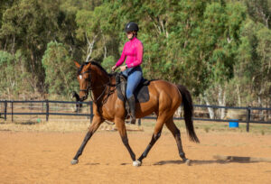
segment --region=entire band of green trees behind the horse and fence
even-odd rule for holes
[[[96,60],[109,72],[127,41],[125,24],[135,21],[145,78],[185,85],[213,104],[222,89],[230,105],[239,98],[268,105],[270,7],[268,0],[7,0],[1,62],[19,62],[14,69],[26,74],[21,86],[27,78],[30,91],[67,96],[77,84],[71,60]]]

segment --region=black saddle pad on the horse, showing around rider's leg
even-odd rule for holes
[[[144,82],[140,83],[138,87],[135,89],[135,102],[144,103],[149,101],[150,95],[149,95],[149,88],[144,84]],[[125,98],[123,94],[121,93],[120,87],[117,87],[117,97],[121,99],[123,102],[125,101]]]

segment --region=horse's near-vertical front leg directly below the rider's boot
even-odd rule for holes
[[[133,165],[135,165],[136,164],[135,163],[135,153],[131,149],[131,147],[129,145],[129,142],[128,142],[125,121],[123,119],[121,119],[121,118],[115,118],[115,124],[116,124],[117,130],[118,130],[118,132],[120,134],[122,143],[124,143],[124,145],[126,146],[126,149],[130,153],[131,159],[133,161]]]

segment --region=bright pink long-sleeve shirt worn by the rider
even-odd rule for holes
[[[127,41],[120,59],[117,60],[116,66],[119,67],[125,60],[128,68],[133,68],[142,63],[143,44],[137,38]]]

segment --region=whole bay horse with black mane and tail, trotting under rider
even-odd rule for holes
[[[80,101],[87,99],[89,91],[92,91],[94,116],[92,124],[89,126],[89,131],[71,161],[71,164],[77,164],[79,162],[79,156],[82,154],[89,139],[105,120],[116,124],[117,131],[127,151],[130,153],[134,166],[140,166],[142,164],[142,160],[145,159],[148,152],[150,152],[154,146],[154,143],[159,139],[164,124],[171,133],[173,133],[182,161],[188,165],[190,164],[190,160],[185,157],[182,150],[180,130],[173,122],[175,110],[183,104],[184,121],[190,140],[195,143],[200,143],[194,132],[192,122],[192,97],[186,87],[174,85],[164,80],[153,80],[150,82],[148,86],[150,99],[145,103],[135,104],[135,117],[142,118],[154,113],[157,115],[157,121],[151,142],[147,145],[145,152],[136,160],[135,153],[128,143],[125,124],[126,107],[125,103],[117,97],[115,75],[108,74],[105,69],[94,61],[83,63],[82,65],[79,65],[79,63],[75,61],[75,65],[79,69],[77,78],[80,88]]]

